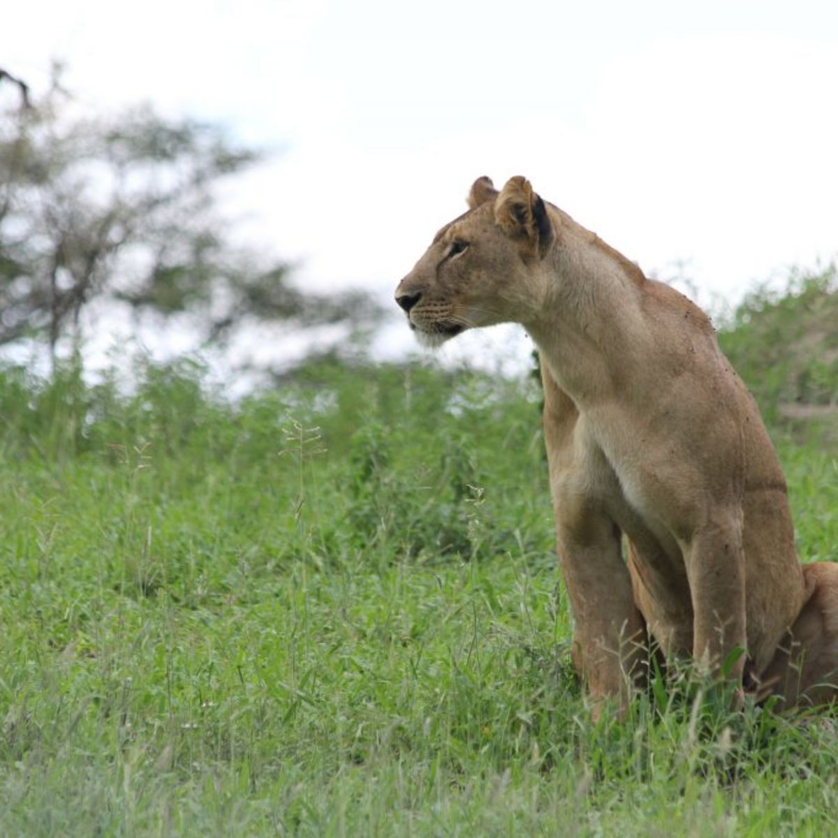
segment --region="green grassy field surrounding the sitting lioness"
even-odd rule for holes
[[[592,724],[532,381],[137,380],[0,374],[0,835],[835,829],[834,714],[655,682]],[[838,443],[775,435],[835,559]]]

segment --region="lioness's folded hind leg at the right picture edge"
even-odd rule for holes
[[[760,677],[779,707],[817,706],[838,699],[838,563],[804,565],[810,596]]]

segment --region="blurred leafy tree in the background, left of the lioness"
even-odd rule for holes
[[[30,96],[31,100],[31,96]],[[239,323],[358,323],[365,294],[315,296],[288,266],[234,246],[215,189],[260,155],[217,127],[148,107],[74,116],[53,85],[31,107],[0,113],[0,344],[80,339],[92,300],[137,316],[189,313],[206,342]]]

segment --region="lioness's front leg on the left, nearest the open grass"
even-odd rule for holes
[[[573,663],[597,718],[609,699],[628,706],[631,685],[646,675],[646,626],[634,604],[620,533],[608,519],[558,522],[561,570],[575,621]]]

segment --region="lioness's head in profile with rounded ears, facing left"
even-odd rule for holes
[[[539,263],[554,237],[544,202],[525,178],[498,192],[484,177],[468,206],[396,288],[411,328],[432,346],[467,328],[527,323],[539,308]]]

